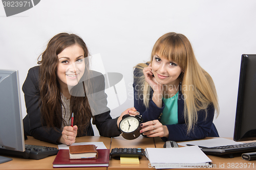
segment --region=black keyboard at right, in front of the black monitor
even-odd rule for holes
[[[247,152],[256,151],[256,142],[234,144],[234,145],[212,147],[212,148],[201,147],[201,150],[205,154],[213,154],[213,155],[247,153]]]

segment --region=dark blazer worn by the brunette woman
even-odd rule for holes
[[[99,72],[93,71],[93,74],[97,75],[93,85],[93,92],[97,92],[95,95],[96,106],[102,110],[106,109],[106,94],[104,92],[105,82],[104,76]],[[23,84],[22,90],[25,96],[25,103],[27,108],[27,115],[23,119],[25,135],[33,136],[34,138],[46,142],[57,143],[57,139],[61,136],[61,130],[56,128],[49,128],[41,120],[41,112],[39,108],[40,91],[39,91],[39,66],[35,66],[29,69],[27,78]],[[103,89],[103,90],[98,90]],[[118,117],[117,117],[118,118]],[[117,118],[112,119],[110,111],[95,115],[93,124],[96,125],[101,136],[112,137],[120,135],[120,131],[117,127]],[[93,128],[90,124],[81,136],[88,135],[93,136]]]

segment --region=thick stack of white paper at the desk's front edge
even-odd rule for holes
[[[150,165],[160,168],[210,167],[211,160],[198,146],[182,148],[146,148]]]

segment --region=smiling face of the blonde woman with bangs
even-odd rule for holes
[[[152,61],[152,72],[158,83],[177,86],[182,68],[176,62],[168,61],[156,53]]]

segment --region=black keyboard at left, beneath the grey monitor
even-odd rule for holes
[[[22,157],[26,159],[42,159],[58,153],[57,148],[43,147],[40,145],[25,144],[25,152],[0,149],[0,153],[8,156]]]

